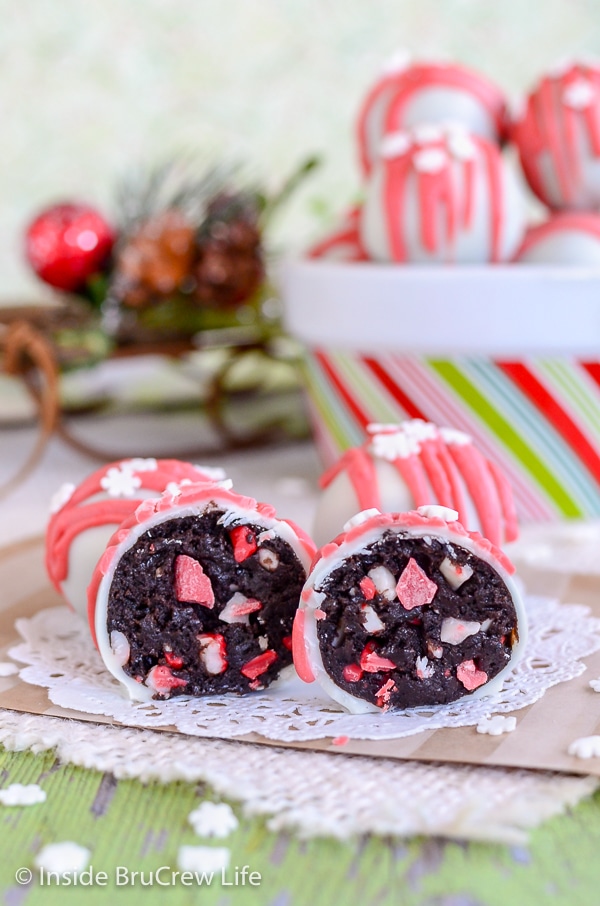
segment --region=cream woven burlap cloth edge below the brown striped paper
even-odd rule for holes
[[[328,755],[0,710],[0,743],[54,750],[118,779],[204,782],[273,831],[346,840],[366,833],[519,844],[591,795],[593,777]]]

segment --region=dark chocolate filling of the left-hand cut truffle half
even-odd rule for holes
[[[156,525],[115,570],[109,637],[123,633],[130,647],[123,669],[141,682],[148,679],[151,688],[158,684],[161,697],[245,693],[268,686],[291,663],[289,637],[304,568],[286,541],[269,533],[260,542],[263,527],[240,528],[239,520],[223,525],[223,516],[222,509],[211,509]],[[190,563],[210,580],[203,579],[212,586],[212,607],[177,599],[177,564]],[[179,596],[186,597],[181,587]],[[219,618],[232,598],[238,607],[242,602],[242,611],[249,599],[242,622]],[[226,613],[231,611],[230,604]]]

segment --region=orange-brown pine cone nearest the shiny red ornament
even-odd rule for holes
[[[194,230],[176,208],[144,221],[117,249],[113,285],[130,308],[145,308],[176,293],[194,260]]]

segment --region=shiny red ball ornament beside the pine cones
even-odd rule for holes
[[[106,261],[115,236],[111,226],[85,204],[55,204],[25,233],[25,255],[35,273],[57,289],[76,292]]]

